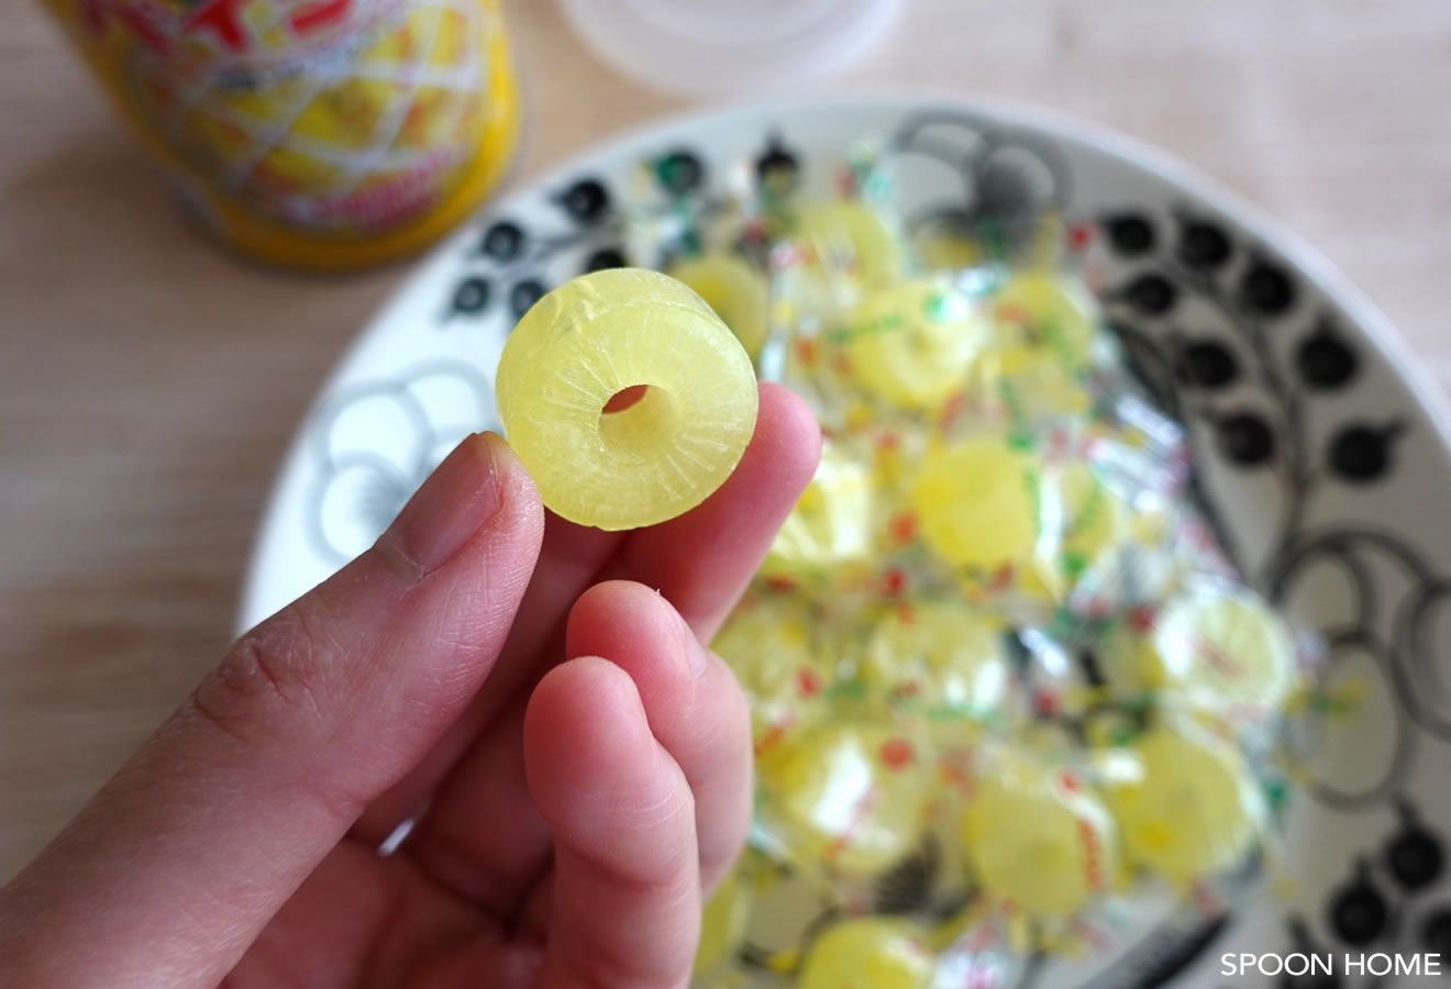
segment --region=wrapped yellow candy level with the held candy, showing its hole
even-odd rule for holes
[[[966,387],[987,325],[977,303],[950,284],[920,278],[868,296],[831,338],[869,394],[930,409]]]

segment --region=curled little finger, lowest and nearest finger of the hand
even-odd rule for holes
[[[695,806],[634,680],[599,657],[554,667],[530,700],[524,753],[554,837],[540,988],[685,986],[701,912]]]

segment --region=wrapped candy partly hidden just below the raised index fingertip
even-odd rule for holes
[[[872,500],[866,463],[824,442],[815,476],[770,544],[762,573],[815,580],[863,564],[872,553]]]

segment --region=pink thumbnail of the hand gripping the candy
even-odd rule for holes
[[[492,434],[459,444],[398,513],[385,539],[429,573],[448,563],[503,505]]]

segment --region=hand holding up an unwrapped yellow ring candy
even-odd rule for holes
[[[611,534],[470,436],[0,890],[0,986],[683,986],[750,814],[704,644],[817,445],[762,386],[720,492]]]

